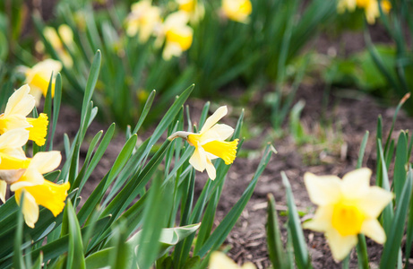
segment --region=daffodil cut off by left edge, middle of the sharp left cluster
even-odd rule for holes
[[[0,200],[5,202],[7,183],[11,184],[22,176],[29,166],[22,146],[29,139],[29,131],[18,128],[0,135]]]

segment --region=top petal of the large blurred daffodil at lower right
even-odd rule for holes
[[[370,187],[372,170],[367,168],[356,169],[348,172],[343,177],[341,190],[348,198],[358,198],[366,195]]]

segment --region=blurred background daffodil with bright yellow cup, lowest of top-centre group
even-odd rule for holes
[[[163,24],[165,35],[165,48],[162,56],[169,60],[172,56],[180,56],[183,51],[191,47],[194,30],[187,25],[189,16],[187,13],[178,11],[168,15]]]

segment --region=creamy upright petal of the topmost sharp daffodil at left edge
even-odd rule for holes
[[[14,91],[7,101],[4,116],[17,114],[26,117],[33,110],[35,104],[34,97],[29,92],[30,87],[28,84],[22,85],[19,90]]]

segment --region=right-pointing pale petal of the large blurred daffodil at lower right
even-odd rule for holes
[[[381,187],[370,187],[366,195],[358,199],[357,207],[370,218],[377,218],[382,213],[384,207],[391,202],[393,195],[391,192]]]

